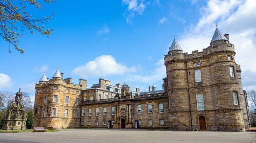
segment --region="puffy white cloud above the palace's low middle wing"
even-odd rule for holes
[[[137,69],[135,67],[127,67],[116,62],[111,55],[102,55],[93,61],[87,62],[72,71],[72,74],[82,77],[104,77],[107,75],[123,75],[125,73],[133,73]]]

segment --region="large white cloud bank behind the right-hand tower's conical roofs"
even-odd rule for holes
[[[244,88],[256,87],[256,3],[247,1],[214,1],[200,9],[201,17],[196,26],[191,26],[177,40],[184,52],[203,51],[208,47],[215,31],[215,22],[223,34],[229,33],[230,42],[235,45],[235,62],[241,65]],[[254,78],[254,79],[253,79]]]

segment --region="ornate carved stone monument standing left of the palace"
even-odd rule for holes
[[[7,108],[4,116],[4,126],[2,130],[26,130],[27,114],[22,104],[21,88],[16,93],[15,102]]]

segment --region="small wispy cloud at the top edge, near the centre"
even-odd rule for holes
[[[139,15],[142,15],[146,6],[150,4],[150,2],[144,3],[143,0],[140,0],[139,2],[137,0],[122,0],[122,4],[128,5],[123,15],[127,23],[132,23],[132,19],[134,18],[134,15],[136,13]]]

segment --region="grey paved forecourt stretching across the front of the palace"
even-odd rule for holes
[[[0,133],[0,142],[255,142],[256,132],[65,129],[59,132]]]

